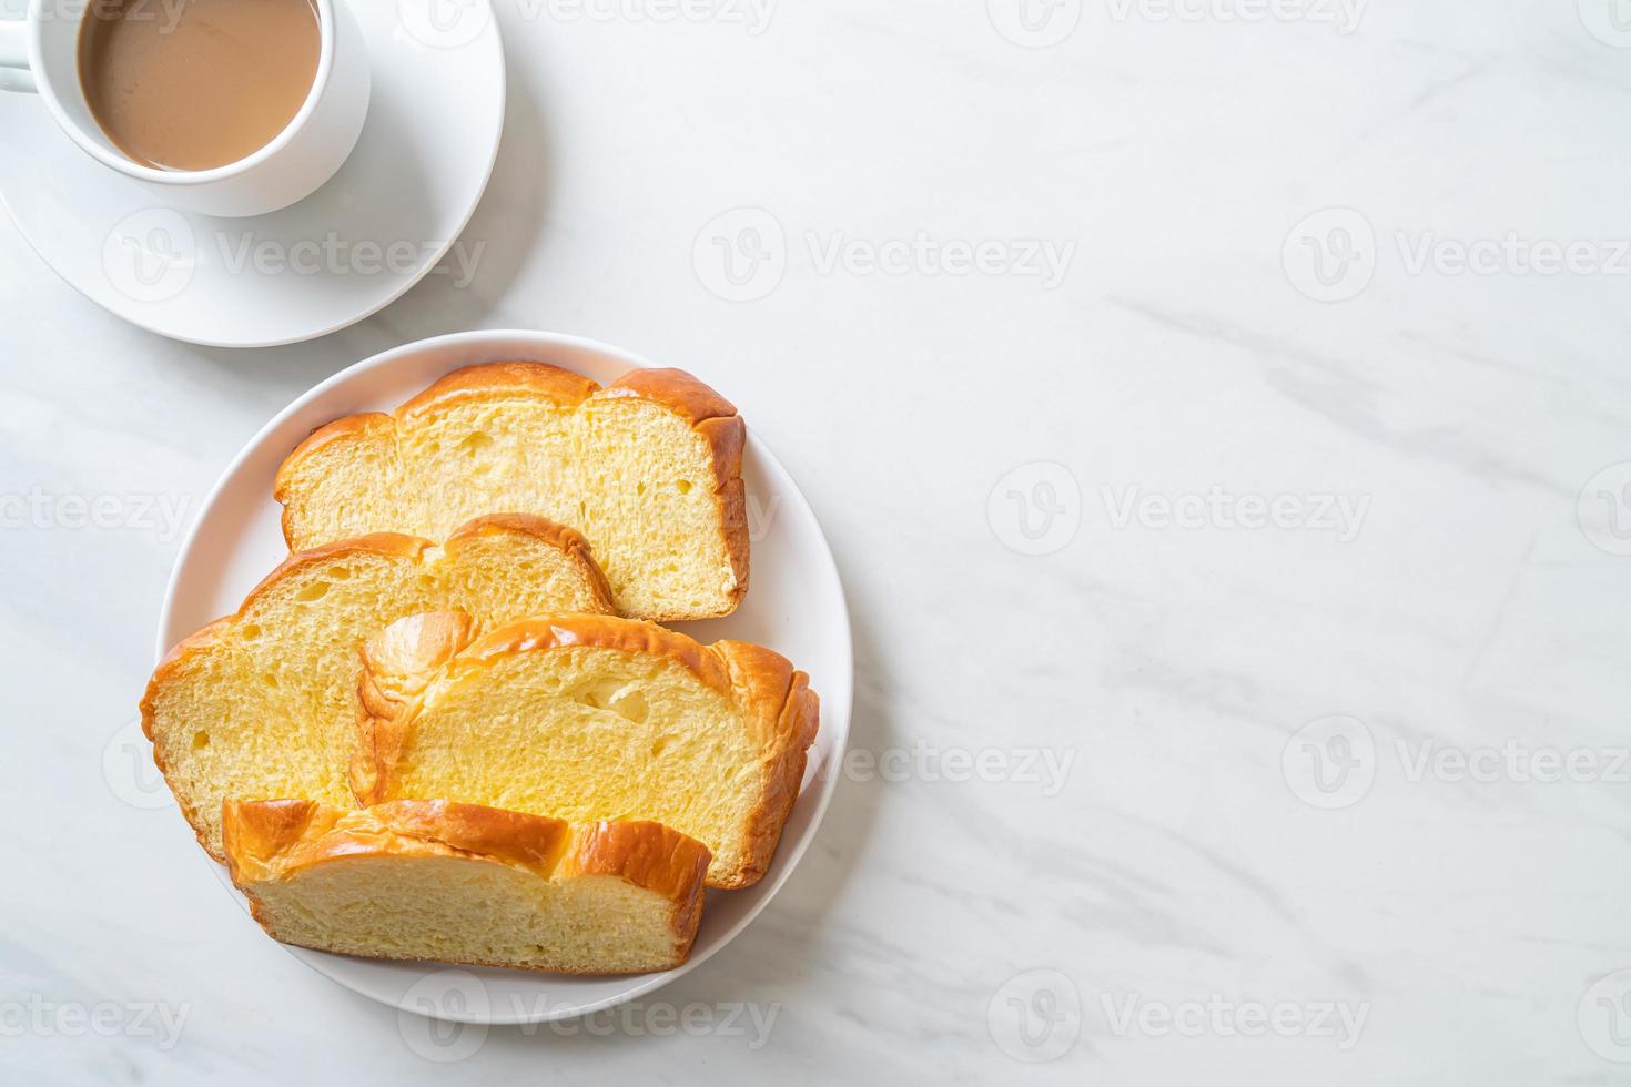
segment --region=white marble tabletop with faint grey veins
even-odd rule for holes
[[[757,34],[497,0],[475,280],[276,350],[139,332],[0,227],[0,1079],[1631,1082],[1611,2],[1060,0],[1028,37],[1006,0]],[[742,207],[771,218],[714,223]],[[773,288],[723,274],[744,227],[786,240]],[[1057,282],[1003,274],[1018,240]],[[639,1015],[437,1048],[259,937],[121,737],[176,551],[145,495],[196,505],[312,383],[476,326],[744,409],[838,556],[864,755],[775,906]]]

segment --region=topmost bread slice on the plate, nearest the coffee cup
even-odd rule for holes
[[[538,513],[594,548],[621,614],[708,619],[747,592],[745,427],[682,370],[607,388],[537,362],[457,370],[393,414],[318,429],[277,473],[290,549],[481,513]]]

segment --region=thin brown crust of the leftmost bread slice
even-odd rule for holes
[[[582,538],[576,530],[564,525],[558,525],[548,518],[535,517],[530,513],[497,513],[488,517],[476,517],[463,525],[460,525],[452,536],[447,539],[447,548],[457,548],[463,539],[480,538],[496,531],[519,531],[537,536],[543,543],[555,546],[566,552],[566,556],[581,567],[581,572],[587,577],[592,592],[595,593],[595,603],[603,606],[607,611],[613,611],[612,587],[595,564],[589,552],[589,541]],[[331,559],[351,556],[351,554],[382,554],[382,556],[403,556],[409,559],[422,559],[424,552],[434,548],[427,539],[419,539],[418,536],[403,536],[398,533],[372,533],[369,536],[357,536],[354,539],[341,539],[338,543],[325,544],[321,548],[312,548],[310,551],[297,551],[287,559],[279,562],[271,574],[256,582],[238,610],[230,616],[222,616],[214,623],[207,623],[192,634],[186,636],[176,642],[163,660],[153,668],[153,675],[147,681],[147,689],[142,693],[140,714],[142,714],[142,735],[153,743],[153,719],[157,714],[157,698],[158,688],[163,681],[170,678],[170,673],[181,667],[181,662],[202,652],[209,652],[220,637],[233,624],[240,623],[245,613],[267,593],[274,585],[290,577],[292,574],[328,562]],[[160,755],[158,746],[153,746],[153,764],[158,772],[165,777],[165,784],[170,786],[170,792],[176,797],[176,805],[181,808],[181,816],[192,828],[192,834],[199,839],[199,846],[215,860],[225,860],[219,849],[212,849],[206,841],[202,823],[197,818],[197,810],[181,799],[179,790],[175,787],[175,779],[171,777],[170,763]]]

